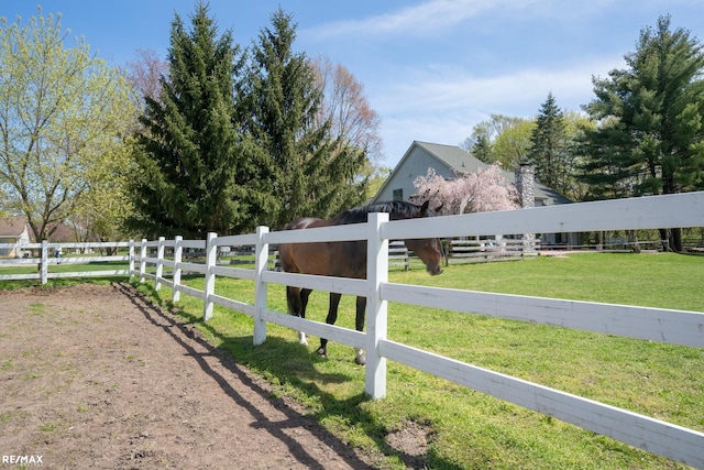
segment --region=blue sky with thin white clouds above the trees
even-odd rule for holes
[[[170,22],[189,23],[196,0],[0,0],[23,23],[62,13],[114,65],[151,48],[166,56]],[[640,30],[670,14],[704,41],[702,0],[210,0],[220,31],[248,46],[279,6],[298,24],[295,48],[326,55],[361,81],[382,118],[383,164],[394,167],[414,140],[458,145],[491,114],[529,118],[548,92],[576,111],[592,76],[625,67]]]

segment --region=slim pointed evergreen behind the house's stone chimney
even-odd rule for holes
[[[530,136],[528,161],[536,165],[536,177],[558,193],[564,194],[569,185],[568,140],[564,114],[552,92],[540,107],[536,127]]]

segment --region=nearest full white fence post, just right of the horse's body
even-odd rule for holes
[[[366,241],[366,367],[364,391],[372,398],[386,395],[386,358],[380,353],[380,340],[386,339],[387,302],[382,299],[382,283],[388,281],[388,240],[382,238],[382,225],[388,214],[370,214]]]

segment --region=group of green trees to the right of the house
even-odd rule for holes
[[[464,142],[477,159],[536,165],[574,201],[704,189],[704,52],[670,17],[644,28],[627,68],[593,77],[595,98],[564,112],[550,92],[536,119],[492,116]],[[675,251],[680,229],[661,230]]]

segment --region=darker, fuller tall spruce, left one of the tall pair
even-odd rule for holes
[[[145,97],[130,220],[145,236],[237,233],[273,207],[266,161],[237,119],[243,54],[230,31],[218,37],[206,4],[196,6],[191,25],[186,31],[175,17],[168,79],[161,78],[158,100]]]

